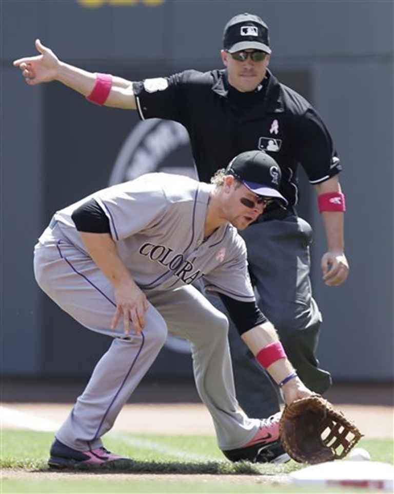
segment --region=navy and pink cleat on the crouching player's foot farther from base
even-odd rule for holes
[[[53,442],[50,450],[48,465],[51,468],[86,468],[86,467],[112,467],[125,468],[133,463],[132,460],[101,448],[78,451],[69,448],[57,439]]]

